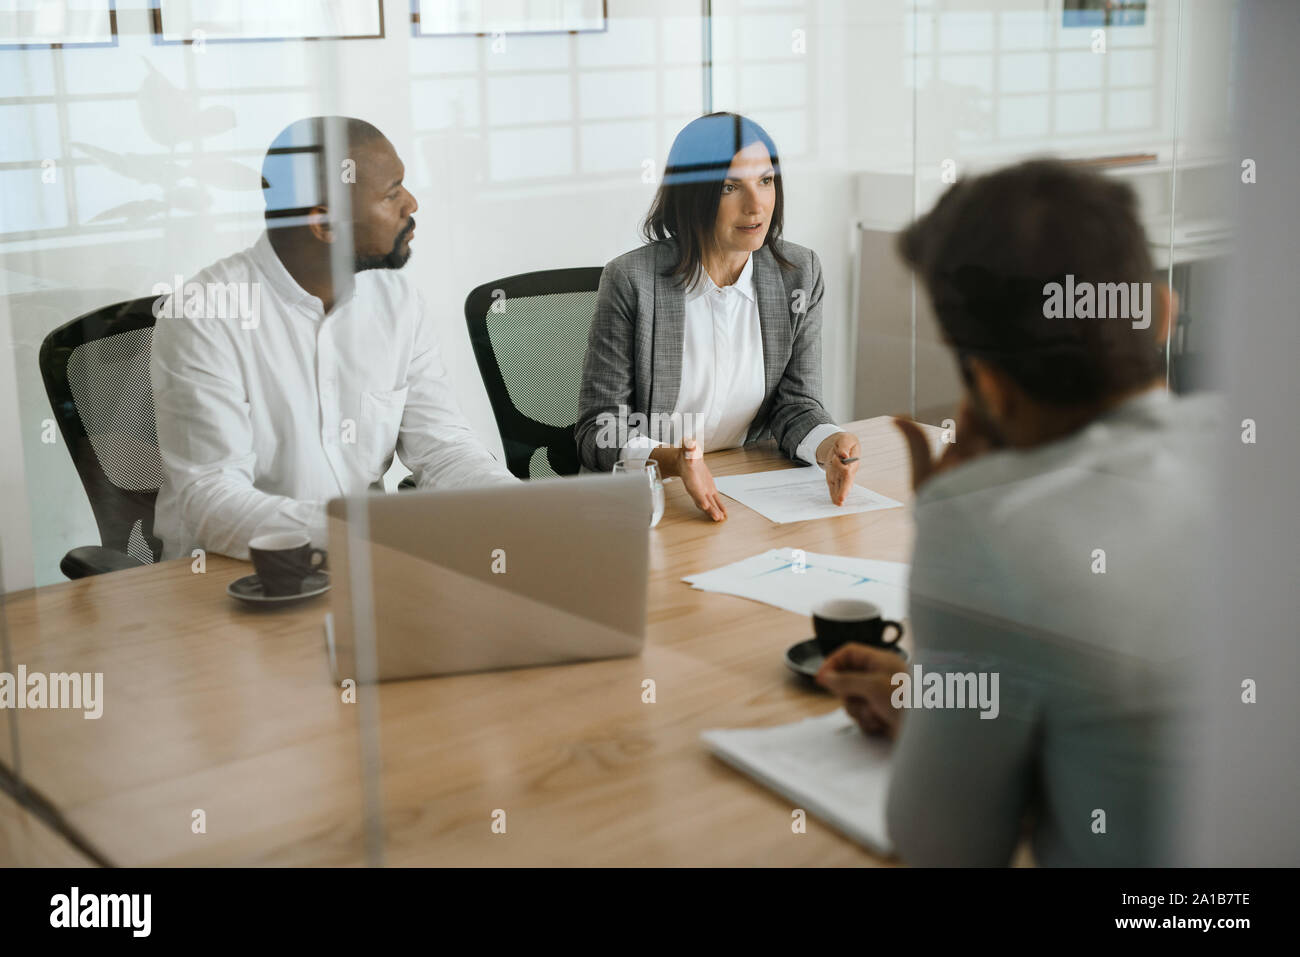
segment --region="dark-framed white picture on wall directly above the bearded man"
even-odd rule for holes
[[[382,0],[150,0],[155,43],[377,40]]]

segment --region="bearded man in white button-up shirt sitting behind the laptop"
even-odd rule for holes
[[[291,124],[263,166],[266,231],[159,298],[164,558],[247,558],[268,532],[324,545],[325,505],[382,488],[394,451],[421,488],[517,481],[465,421],[425,302],[395,272],[417,208],[403,173],[361,120]]]

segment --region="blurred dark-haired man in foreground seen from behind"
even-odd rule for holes
[[[913,659],[846,645],[819,680],[866,732],[897,735],[887,814],[905,862],[1008,863],[1028,830],[1041,865],[1167,863],[1197,740],[1218,410],[1165,389],[1175,304],[1150,281],[1134,192],[1026,163],[956,185],[900,248],[963,412],[937,463],[900,421]]]

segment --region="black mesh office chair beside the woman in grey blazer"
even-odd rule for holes
[[[506,467],[520,478],[576,475],[578,391],[601,267],[547,269],[486,282],[465,322]]]

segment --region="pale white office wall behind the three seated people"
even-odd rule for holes
[[[894,237],[954,178],[1044,155],[1138,191],[1183,307],[1170,382],[1204,384],[1223,183],[1240,172],[1225,165],[1235,4],[1152,0],[1106,23],[1072,0],[711,0],[616,8],[601,31],[416,34],[389,16],[299,31],[338,39],[273,39],[290,25],[269,22],[183,40],[160,26],[172,7],[188,23],[183,5],[142,3],[60,33],[17,18],[10,39],[26,43],[0,44],[10,588],[61,580],[68,550],[99,541],[40,377],[46,335],[247,246],[266,146],[286,117],[320,111],[364,113],[400,142],[439,224],[421,237],[419,280],[437,290],[467,411],[489,436],[459,334],[468,290],[443,290],[630,248],[672,137],[702,109],[751,116],[781,151],[785,235],[824,269],[837,417],[952,410],[956,371]],[[575,209],[584,228],[558,230]],[[387,486],[403,475],[398,463]]]

